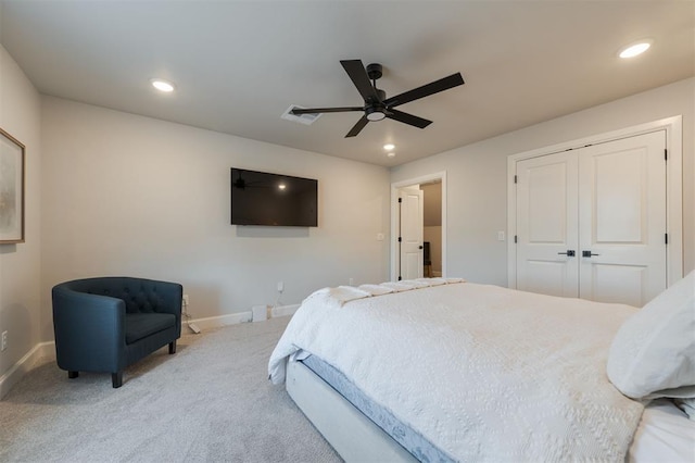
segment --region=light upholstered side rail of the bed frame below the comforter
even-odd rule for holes
[[[417,462],[403,446],[303,363],[288,362],[287,391],[345,462]]]

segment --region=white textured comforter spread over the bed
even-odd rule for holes
[[[635,308],[470,283],[323,289],[268,365],[315,354],[460,461],[623,461],[644,406],[606,376]]]

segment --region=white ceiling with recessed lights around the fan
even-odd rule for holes
[[[397,165],[695,75],[694,1],[0,0],[0,41],[45,95],[357,161]],[[652,38],[631,61],[617,51]],[[340,65],[384,66],[387,97],[460,72],[466,84],[313,125],[291,105],[354,107]],[[177,86],[159,95],[164,77]],[[396,145],[389,159],[381,146]]]

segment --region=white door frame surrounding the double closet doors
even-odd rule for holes
[[[507,188],[507,236],[509,237],[507,240],[507,281],[509,288],[516,289],[517,287],[517,249],[514,242],[514,237],[517,235],[517,189],[514,183],[517,162],[658,130],[666,130],[666,149],[668,150],[666,165],[666,233],[669,237],[666,251],[667,284],[671,286],[683,277],[683,116],[677,115],[525,151],[507,158],[507,185],[509,185]]]

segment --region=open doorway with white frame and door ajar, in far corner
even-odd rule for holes
[[[392,184],[391,204],[391,279],[445,276],[445,172]]]

